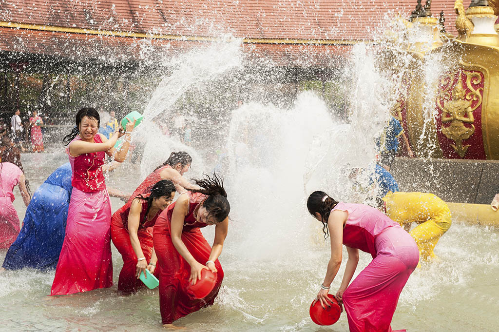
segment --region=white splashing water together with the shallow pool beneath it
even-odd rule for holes
[[[214,306],[178,324],[186,331],[316,331],[308,307],[324,277],[330,247],[323,241],[320,223],[308,215],[305,199],[313,190],[338,200],[357,194],[346,172],[373,160],[373,137],[389,118],[387,95],[397,90],[392,77],[378,67],[376,49],[353,47],[348,65],[336,78],[347,87],[348,123],[335,120],[321,94],[312,91],[298,93],[288,107],[279,98],[262,101],[249,88],[241,106],[232,100],[222,110],[213,106],[217,98],[242,94],[241,85],[261,79],[260,72],[242,74],[245,60],[239,40],[166,58],[163,65],[169,71],[160,78],[145,107],[145,121],[133,135],[143,149],[142,161],[122,166],[110,182],[131,192],[170,152],[185,150],[193,156],[187,176],[216,169],[225,176],[232,205],[220,258],[226,276],[223,289]],[[206,107],[196,108],[200,103]],[[165,134],[162,127],[179,109],[193,117],[198,139],[193,146]],[[46,155],[49,160],[40,164],[29,158],[39,157],[26,155],[28,165],[38,165],[26,167],[38,184],[53,171],[52,161],[61,159]],[[23,211],[20,201],[16,208]],[[113,211],[122,204],[112,202]],[[203,233],[211,242],[214,229]],[[498,231],[454,221],[435,252],[440,262],[414,272],[392,326],[409,331],[495,331],[499,286],[490,276],[499,275]],[[113,257],[116,284],[122,263],[114,249]],[[361,254],[357,274],[370,260]],[[343,272],[344,265],[332,290],[339,287]],[[23,331],[162,331],[157,291],[122,297],[114,286],[48,298],[52,279],[53,272],[0,275],[0,331],[16,331],[19,321]],[[331,331],[348,331],[345,314]]]

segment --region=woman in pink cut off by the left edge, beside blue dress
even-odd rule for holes
[[[17,185],[24,205],[28,206],[31,197],[21,169],[12,163],[0,163],[0,249],[10,247],[21,230],[17,211],[12,205],[15,199],[13,190]]]

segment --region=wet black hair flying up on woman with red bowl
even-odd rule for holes
[[[203,202],[203,207],[208,211],[208,217],[213,217],[217,224],[224,221],[231,212],[231,205],[224,189],[224,179],[213,173],[212,177],[205,174],[203,179],[194,179],[194,182],[202,189],[193,189],[191,192],[208,196]]]

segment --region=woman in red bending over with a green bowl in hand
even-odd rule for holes
[[[113,214],[111,240],[123,257],[118,291],[135,293],[137,287],[143,285],[138,280],[140,274],[145,273],[145,269],[154,273],[158,259],[153,248],[152,228],[174,197],[173,182],[161,180],[149,194],[136,196]]]

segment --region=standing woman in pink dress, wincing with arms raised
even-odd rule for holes
[[[73,187],[66,222],[66,235],[55,270],[50,295],[67,295],[111,287],[111,205],[102,172],[105,155],[122,162],[130,144],[135,120],[126,132],[110,139],[98,134],[99,113],[90,107],[76,113],[76,127],[64,137],[71,163]],[[114,144],[125,135],[120,151]]]

